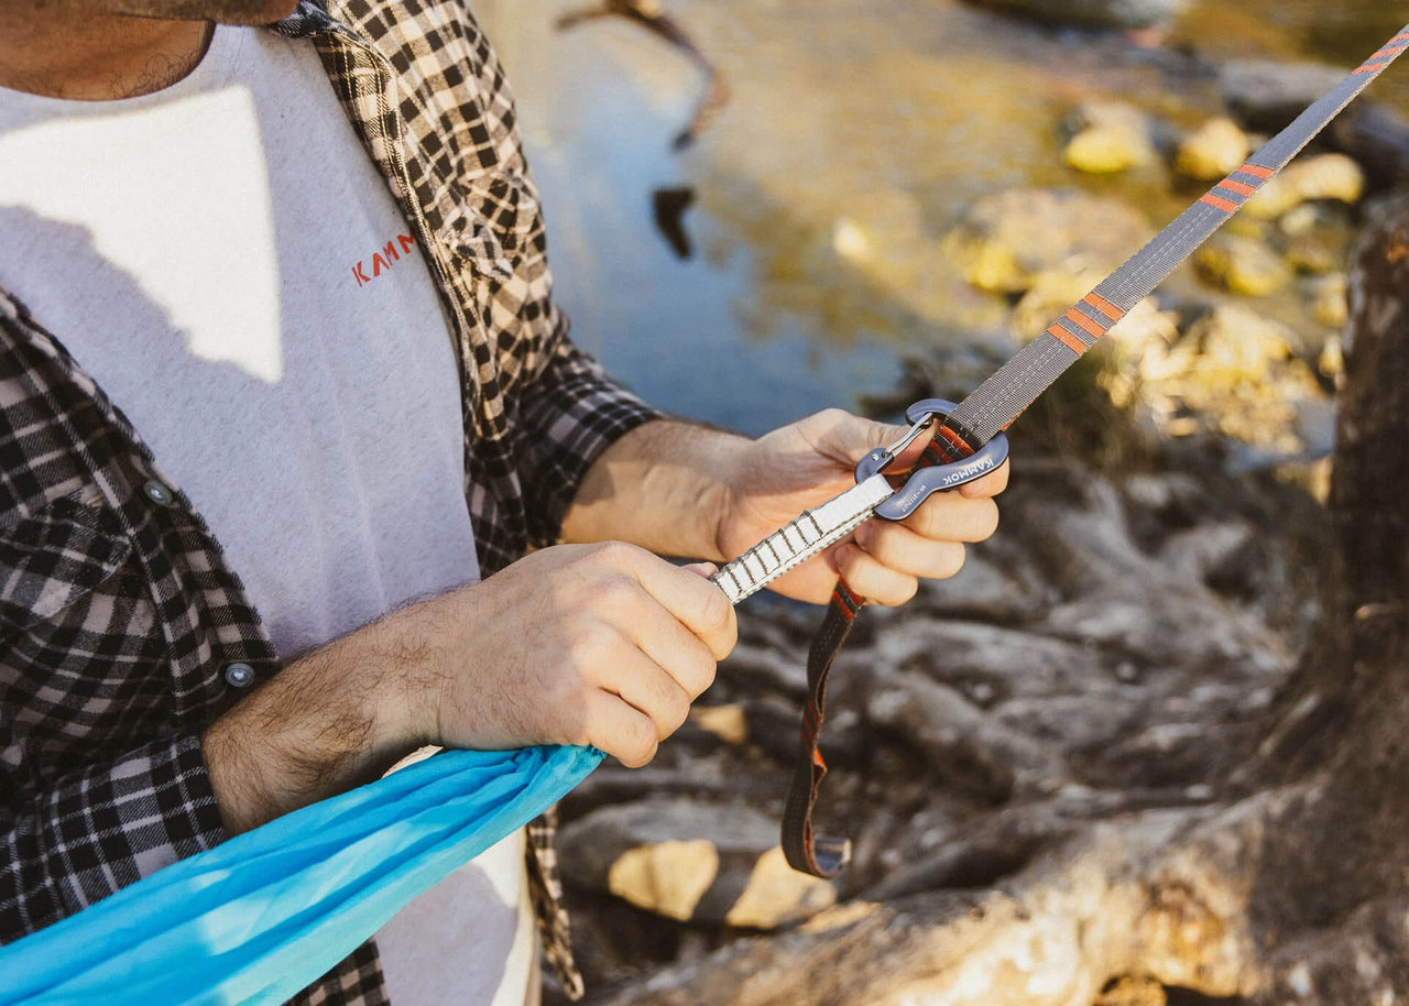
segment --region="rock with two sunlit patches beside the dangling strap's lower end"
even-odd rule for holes
[[[681,921],[775,929],[836,903],[828,881],[790,869],[778,821],[744,806],[645,800],[565,826],[564,875]]]

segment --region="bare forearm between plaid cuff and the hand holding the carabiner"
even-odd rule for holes
[[[752,441],[679,420],[631,430],[588,469],[562,521],[564,541],[630,541],[659,555],[723,562],[719,526],[728,476]]]

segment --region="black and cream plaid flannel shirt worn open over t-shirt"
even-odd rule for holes
[[[492,575],[552,544],[592,461],[657,413],[566,338],[513,101],[464,3],[303,0],[273,30],[316,46],[426,251]],[[200,733],[248,690],[230,665],[279,669],[204,521],[59,337],[0,289],[0,943],[220,843]],[[530,888],[581,993],[551,838],[530,827]],[[386,1000],[369,941],[296,1002]]]

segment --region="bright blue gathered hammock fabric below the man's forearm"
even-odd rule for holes
[[[0,947],[0,1003],[280,1003],[602,757],[442,751],[296,810]]]

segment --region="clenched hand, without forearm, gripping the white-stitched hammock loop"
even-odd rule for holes
[[[713,572],[621,542],[559,545],[431,602],[424,617],[444,619],[452,654],[418,683],[427,740],[595,744],[645,765],[734,648]]]

